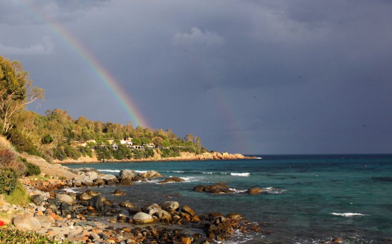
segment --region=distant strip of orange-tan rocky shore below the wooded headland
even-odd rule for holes
[[[255,157],[246,157],[241,154],[219,153],[217,151],[210,151],[202,154],[194,154],[188,152],[181,152],[179,157],[162,158],[159,154],[147,159],[126,159],[115,160],[109,159],[105,162],[151,162],[151,161],[200,161],[200,160],[238,160],[238,159],[256,159]],[[77,160],[53,160],[54,163],[59,164],[72,164],[72,163],[101,163],[97,157],[81,157]]]

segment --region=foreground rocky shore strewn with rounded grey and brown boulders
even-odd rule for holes
[[[32,203],[24,207],[0,205],[0,212],[13,216],[4,219],[6,224],[12,223],[21,230],[36,231],[59,240],[94,244],[209,243],[226,240],[236,231],[260,230],[257,224],[249,223],[238,213],[199,214],[206,209],[192,209],[177,201],[144,205],[130,201],[114,203],[99,192],[101,186],[132,186],[135,181],[162,177],[156,171],[122,170],[115,176],[100,174],[92,168],[75,170],[52,165],[51,170],[54,169],[53,172],[66,170],[72,178],[43,173],[37,178],[23,179],[22,184]],[[160,183],[181,181],[181,178],[169,177]],[[78,194],[65,191],[73,187],[88,187],[89,190]],[[113,195],[125,194],[116,187],[113,190]]]

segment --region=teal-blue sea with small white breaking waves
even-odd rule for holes
[[[197,214],[239,212],[261,226],[237,231],[223,243],[392,243],[392,155],[252,155],[258,159],[175,162],[67,164],[118,175],[122,169],[156,170],[184,182],[160,179],[129,187],[95,189],[114,202],[178,201]],[[232,194],[192,191],[197,185],[225,182]],[[245,191],[257,187],[259,195]],[[120,188],[125,196],[110,195]],[[82,192],[85,189],[73,189]],[[167,199],[167,196],[171,196]]]

